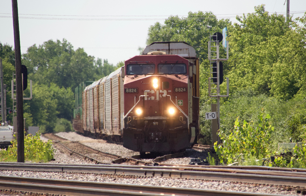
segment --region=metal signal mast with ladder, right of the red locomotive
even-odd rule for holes
[[[226,61],[229,59],[229,43],[228,41],[226,41],[226,59],[220,59],[219,48],[220,48],[220,42],[222,41],[222,38],[223,38],[222,34],[214,33],[214,35],[210,35],[209,38],[210,39],[208,41],[208,60],[210,61],[210,78],[208,78],[208,96],[211,97],[211,108],[213,108],[212,101],[217,100],[217,111],[216,111],[217,112],[217,129],[215,130],[219,130],[220,129],[220,98],[229,96],[229,78],[226,78],[226,88],[227,88],[226,95],[220,94],[220,84],[223,82],[223,65],[222,65],[222,62],[220,61]],[[220,63],[221,63],[222,70],[220,70]],[[222,75],[222,77],[220,77],[220,75]],[[214,125],[212,123],[212,129],[215,128],[213,126]],[[219,142],[220,142],[220,139],[218,137],[218,143]]]

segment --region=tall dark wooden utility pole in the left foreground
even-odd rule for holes
[[[21,52],[17,0],[12,0],[13,27],[16,65],[16,102],[17,102],[17,162],[24,163],[24,127],[23,127],[23,88],[21,75]]]

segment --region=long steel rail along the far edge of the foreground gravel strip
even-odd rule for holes
[[[228,173],[228,172],[213,172],[213,171],[185,171],[181,168],[156,168],[156,167],[86,167],[86,166],[71,166],[71,165],[27,165],[27,164],[1,164],[1,170],[28,170],[28,171],[63,171],[77,173],[96,173],[96,174],[111,174],[111,175],[134,175],[148,177],[171,177],[185,179],[204,179],[204,180],[220,180],[242,183],[261,183],[287,186],[302,186],[306,187],[306,177],[282,176],[273,173],[272,175],[251,174],[251,173]],[[257,171],[256,171],[257,172]]]

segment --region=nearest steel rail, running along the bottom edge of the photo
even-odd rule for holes
[[[171,195],[171,196],[279,196],[249,192],[220,191],[207,189],[174,188],[121,183],[98,183],[76,180],[38,179],[0,176],[0,188],[55,195]]]

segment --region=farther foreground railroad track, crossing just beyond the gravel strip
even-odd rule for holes
[[[162,178],[184,178],[219,180],[241,183],[260,183],[271,185],[300,186],[305,190],[306,172],[282,170],[254,170],[176,167],[176,166],[136,166],[136,165],[74,165],[48,163],[0,163],[1,170],[76,172],[109,175],[132,175]],[[233,167],[234,168],[234,167]],[[265,167],[263,167],[265,168]],[[278,168],[279,169],[279,168]]]

